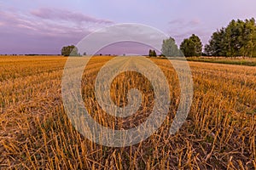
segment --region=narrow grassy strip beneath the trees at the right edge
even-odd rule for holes
[[[248,65],[256,66],[256,58],[227,58],[227,57],[189,57],[189,61],[200,61],[207,63],[219,63],[219,64],[230,64],[230,65]]]

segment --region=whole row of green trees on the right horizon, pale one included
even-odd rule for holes
[[[177,48],[175,39],[163,40],[161,53],[166,56],[224,56],[256,57],[256,24],[250,20],[231,20],[227,27],[212,33],[203,51],[200,37],[192,34],[185,38]]]

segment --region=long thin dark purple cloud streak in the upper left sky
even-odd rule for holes
[[[97,19],[85,14],[76,13],[73,11],[54,9],[54,8],[38,8],[31,11],[31,14],[41,19],[46,20],[67,20],[73,21],[78,24],[82,22],[100,23],[100,24],[112,24],[113,21]]]

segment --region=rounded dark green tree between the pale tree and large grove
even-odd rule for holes
[[[186,38],[180,45],[180,50],[186,57],[201,56],[202,43],[198,36],[193,34],[191,37]]]

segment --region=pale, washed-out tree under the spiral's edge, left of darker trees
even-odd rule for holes
[[[177,57],[183,55],[177,48],[175,39],[172,37],[163,40],[161,52],[162,55],[165,55],[166,57]]]

